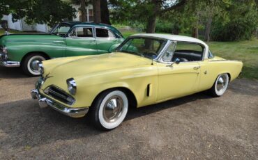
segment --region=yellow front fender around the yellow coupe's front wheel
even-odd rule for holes
[[[109,72],[100,72],[75,77],[77,83],[77,99],[74,107],[91,106],[93,100],[104,90],[127,88],[137,100],[137,107],[156,102],[158,93],[158,67],[123,68]],[[152,84],[153,94],[147,96],[148,85]]]

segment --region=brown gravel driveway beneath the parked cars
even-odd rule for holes
[[[258,159],[258,81],[130,109],[112,131],[39,109],[37,78],[0,67],[0,159]]]

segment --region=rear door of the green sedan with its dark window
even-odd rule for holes
[[[116,38],[114,33],[107,28],[96,27],[95,29],[98,54],[110,52],[122,42],[121,38]]]

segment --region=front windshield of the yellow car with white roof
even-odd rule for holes
[[[128,38],[117,51],[146,58],[156,58],[166,44],[166,40],[154,38]]]

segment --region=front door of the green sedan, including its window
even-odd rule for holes
[[[76,26],[66,38],[66,56],[98,54],[92,26]]]

